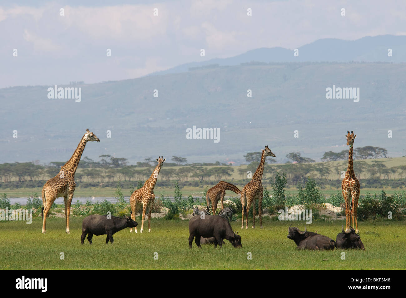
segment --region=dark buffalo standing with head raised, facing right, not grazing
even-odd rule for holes
[[[111,215],[110,215],[111,216]],[[131,213],[130,213],[131,216]],[[87,239],[89,240],[89,243],[92,244],[92,237],[93,235],[99,236],[99,235],[106,235],[106,244],[108,244],[108,241],[110,240],[111,243],[113,243],[113,234],[121,231],[124,228],[134,228],[138,224],[134,220],[131,219],[131,217],[128,216],[123,216],[123,218],[111,216],[111,218],[107,218],[107,215],[89,215],[83,219],[82,222],[82,236],[80,236],[80,239],[82,240],[82,244],[84,241],[84,238],[86,238],[87,233],[89,235],[87,236]]]

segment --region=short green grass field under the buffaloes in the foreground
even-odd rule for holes
[[[263,229],[241,230],[242,248],[229,241],[223,248],[205,245],[199,250],[188,245],[188,221],[151,220],[151,233],[130,233],[126,228],[114,234],[114,244],[106,236],[93,236],[93,245],[80,244],[80,217],[71,217],[70,234],[65,218],[49,218],[47,233],[41,233],[42,220],[0,222],[0,269],[405,269],[406,221],[359,222],[366,250],[298,251],[287,239],[292,222],[264,219]],[[137,218],[140,228],[140,220]],[[335,240],[343,222],[313,221],[311,231]],[[294,226],[304,227],[304,222]],[[139,229],[138,229],[139,231]],[[60,252],[65,255],[60,260]],[[158,259],[154,260],[154,253]],[[248,252],[252,259],[248,260]],[[341,252],[346,259],[341,259]]]

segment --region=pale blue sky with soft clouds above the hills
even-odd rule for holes
[[[1,1],[0,88],[123,80],[255,48],[404,35],[405,21],[402,1]]]

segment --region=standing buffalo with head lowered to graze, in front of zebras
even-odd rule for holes
[[[237,232],[238,233],[238,232]],[[205,215],[204,218],[194,216],[189,221],[189,248],[192,248],[193,238],[197,247],[201,248],[201,237],[214,237],[214,246],[222,247],[223,239],[227,239],[234,247],[242,247],[241,237],[233,232],[230,223],[225,218],[216,215]]]

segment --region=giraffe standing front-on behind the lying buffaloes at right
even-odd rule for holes
[[[354,139],[356,135],[354,135],[354,131],[350,132],[347,131],[347,146],[350,146],[350,150],[348,152],[348,169],[346,172],[346,176],[341,183],[341,187],[343,189],[343,197],[346,202],[346,231],[350,228],[350,214],[352,217],[352,226],[354,226],[355,220],[355,233],[358,234],[358,223],[356,221],[356,209],[358,207],[358,199],[359,199],[359,182],[355,176],[354,168],[352,167],[352,148],[354,147]],[[351,202],[349,198],[351,197]],[[352,206],[350,206],[352,204]]]

